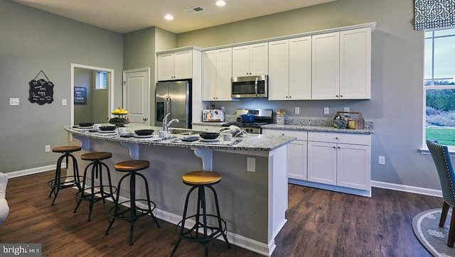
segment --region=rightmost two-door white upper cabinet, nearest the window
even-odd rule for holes
[[[312,99],[371,98],[371,28],[313,35]]]

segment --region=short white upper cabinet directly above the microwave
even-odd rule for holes
[[[269,44],[258,43],[232,48],[232,77],[267,75]]]

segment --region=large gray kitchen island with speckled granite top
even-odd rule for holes
[[[156,217],[173,224],[181,221],[189,190],[182,182],[182,175],[201,169],[220,173],[222,179],[215,185],[215,190],[221,215],[228,224],[230,243],[264,256],[272,254],[274,238],[287,222],[287,145],[295,137],[250,134],[231,141],[183,142],[181,139],[185,135],[181,133],[159,138],[159,127],[127,126],[127,132],[137,128],[154,129],[154,136],[122,138],[117,133],[92,133],[70,127],[65,130],[82,143],[83,151],[75,154],[79,159],[87,151],[112,153],[113,157],[105,163],[115,184],[122,176],[114,170],[115,163],[130,159],[149,160],[150,168],[142,173],[157,206]],[[80,172],[87,164],[80,162]],[[137,187],[137,192],[143,194],[143,185]],[[127,188],[121,188],[121,197],[128,195]],[[196,203],[192,207],[196,207]],[[210,205],[208,209],[211,208]],[[152,223],[150,229],[150,233],[159,233],[159,228]],[[169,248],[169,253],[171,250]]]

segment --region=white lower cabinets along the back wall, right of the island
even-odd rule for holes
[[[369,134],[271,128],[262,128],[262,133],[296,136],[297,140],[288,145],[288,177],[294,179],[290,182],[356,195],[370,195]]]

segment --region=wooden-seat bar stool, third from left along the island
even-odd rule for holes
[[[105,235],[107,236],[107,233],[109,232],[109,229],[111,229],[112,224],[114,224],[114,221],[116,219],[122,219],[124,221],[129,222],[129,245],[133,245],[133,229],[134,229],[134,222],[137,221],[137,219],[144,217],[148,214],[150,214],[151,218],[154,220],[156,225],[158,227],[158,220],[156,220],[155,215],[153,214],[154,209],[156,208],[156,204],[154,202],[151,202],[150,196],[149,196],[149,184],[147,183],[146,177],[142,175],[141,173],[137,173],[139,170],[145,170],[146,168],[149,168],[150,163],[147,160],[127,160],[122,163],[117,163],[114,165],[115,170],[123,173],[127,173],[124,175],[120,180],[119,180],[119,185],[117,186],[117,201],[115,202],[115,206],[112,207],[112,209],[109,210],[109,217],[111,218],[109,222],[109,226],[107,227],[107,231]],[[136,176],[139,176],[144,180],[144,185],[145,185],[145,193],[146,193],[146,199],[136,199]],[[122,186],[122,181],[129,177],[129,200],[124,201],[124,202],[119,202],[119,197],[120,197],[120,188]],[[138,207],[137,202],[141,202],[143,204],[146,204],[147,207],[146,209]],[[122,208],[122,204],[128,203],[129,207],[128,208]],[[152,208],[153,205],[153,208]],[[139,212],[139,214],[137,213]]]

